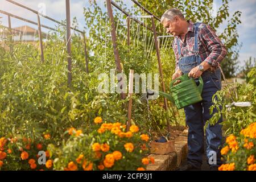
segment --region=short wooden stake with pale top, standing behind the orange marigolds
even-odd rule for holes
[[[128,121],[127,121],[127,126],[126,126],[126,131],[130,130],[131,126],[131,109],[133,107],[133,73],[134,70],[130,69],[130,74],[129,74],[129,104],[128,104]]]

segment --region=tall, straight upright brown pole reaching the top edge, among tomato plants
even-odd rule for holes
[[[68,86],[71,86],[71,27],[70,27],[70,6],[69,0],[66,0],[66,22],[67,22],[67,53],[68,53]]]

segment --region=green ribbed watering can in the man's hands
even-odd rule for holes
[[[174,86],[174,82],[177,80],[181,82]],[[187,73],[171,81],[171,94],[159,91],[159,95],[172,101],[177,106],[177,109],[181,109],[185,106],[202,101],[202,90],[203,79],[199,77],[199,86],[197,86],[196,81],[193,78],[189,78]]]

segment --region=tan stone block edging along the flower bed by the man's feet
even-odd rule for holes
[[[179,137],[175,139],[175,152],[170,154],[150,154],[148,157],[155,159],[154,164],[148,164],[148,171],[173,171],[180,167],[180,164],[187,158],[188,153],[188,130],[185,129]]]

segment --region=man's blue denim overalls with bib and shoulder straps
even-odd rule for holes
[[[179,68],[183,73],[188,73],[192,68],[201,63],[198,47],[198,28],[200,23],[194,24],[195,44],[193,55],[181,57],[181,49],[179,39],[177,40],[177,48],[179,52]],[[189,127],[188,130],[188,156],[187,162],[193,166],[200,168],[202,164],[202,155],[204,152],[204,130],[205,122],[212,115],[209,114],[209,107],[212,105],[212,96],[221,89],[221,72],[216,69],[216,72],[205,71],[201,75],[204,81],[202,97],[203,101],[196,104],[184,107],[185,120]],[[198,82],[198,80],[196,80]],[[213,110],[215,113],[216,110]],[[222,122],[222,117],[218,123]],[[222,125],[216,124],[207,127],[206,130],[206,155],[208,162],[212,166],[221,164],[220,147],[222,142]]]

